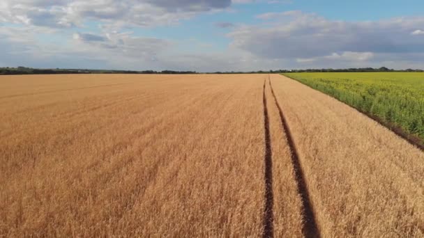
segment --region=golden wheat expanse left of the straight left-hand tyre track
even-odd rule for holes
[[[264,77],[2,77],[0,234],[260,236]]]

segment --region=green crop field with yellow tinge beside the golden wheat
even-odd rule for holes
[[[424,141],[424,73],[289,73],[287,77],[377,116]]]

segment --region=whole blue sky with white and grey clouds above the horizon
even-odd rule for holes
[[[1,0],[0,67],[424,69],[422,0]]]

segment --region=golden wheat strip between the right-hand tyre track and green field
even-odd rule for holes
[[[280,75],[271,83],[322,237],[422,237],[424,153],[328,95]]]

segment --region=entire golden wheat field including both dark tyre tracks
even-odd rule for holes
[[[424,236],[424,153],[287,77],[0,81],[0,237]]]

